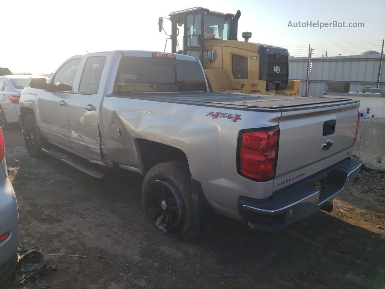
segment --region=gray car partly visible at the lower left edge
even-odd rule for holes
[[[0,283],[15,269],[20,241],[19,216],[12,183],[4,157],[4,137],[0,129]]]

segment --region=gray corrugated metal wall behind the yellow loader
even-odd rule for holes
[[[301,95],[305,95],[307,62],[307,57],[289,57],[289,79],[301,80]],[[376,54],[313,58],[310,96],[321,96],[326,82],[350,82],[350,92],[360,91],[365,86],[375,88],[379,64],[380,55]],[[384,67],[382,85],[385,85]]]

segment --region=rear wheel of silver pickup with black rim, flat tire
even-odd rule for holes
[[[160,232],[180,240],[198,237],[192,209],[189,168],[179,161],[152,167],[142,185],[147,220]]]

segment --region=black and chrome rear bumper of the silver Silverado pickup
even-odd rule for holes
[[[265,202],[240,198],[239,208],[251,229],[275,232],[311,215],[330,204],[358,174],[362,161],[356,158],[336,166],[327,173],[322,188],[311,185],[314,181],[300,184]]]

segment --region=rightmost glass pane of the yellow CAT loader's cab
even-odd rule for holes
[[[207,13],[204,15],[204,39],[230,39],[231,18]]]

